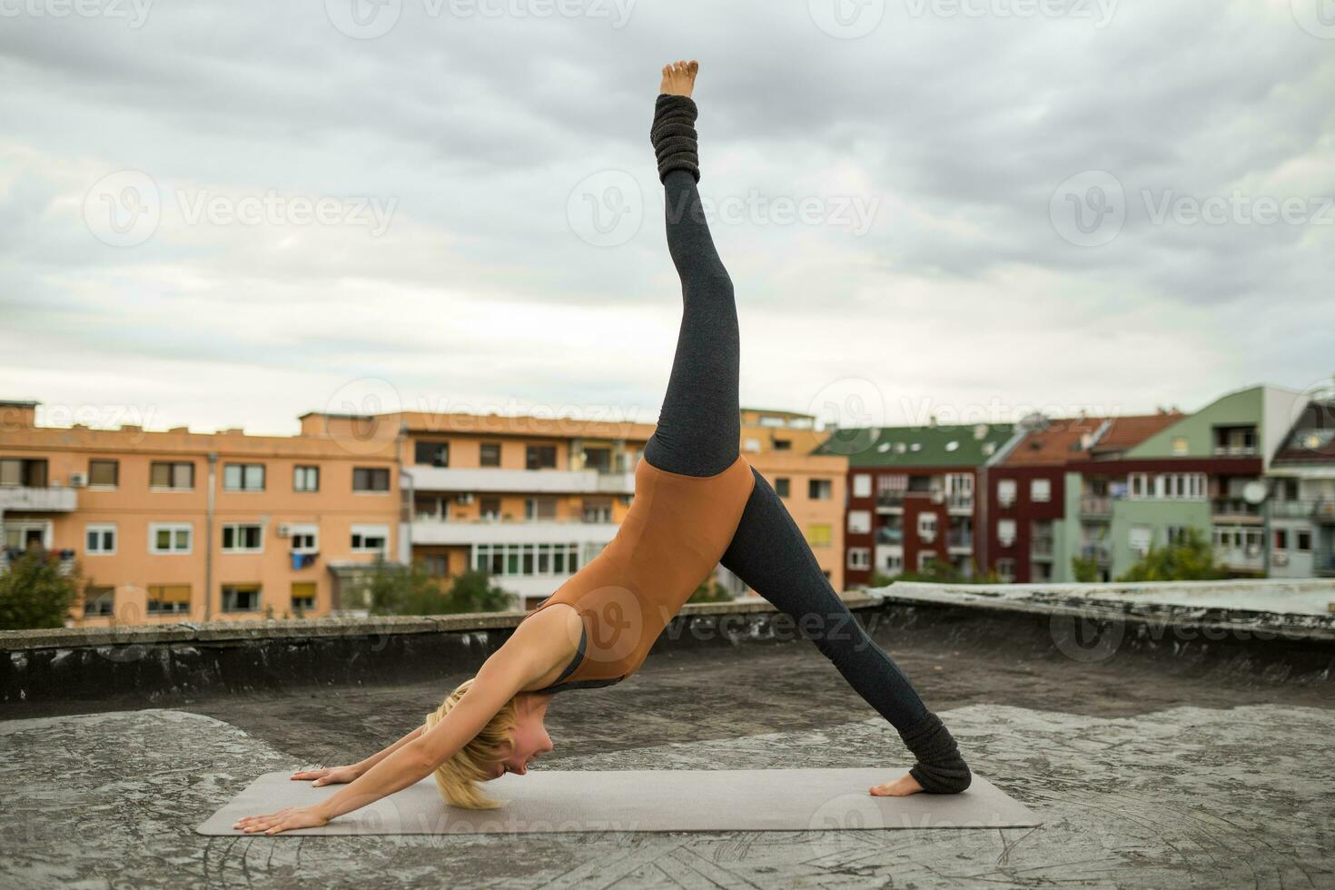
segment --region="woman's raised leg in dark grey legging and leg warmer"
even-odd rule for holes
[[[665,75],[666,83],[666,75]],[[668,472],[713,476],[741,440],[737,306],[696,188],[696,103],[659,95],[651,139],[663,183],[668,250],[681,278],[682,314],[668,394],[645,459]]]

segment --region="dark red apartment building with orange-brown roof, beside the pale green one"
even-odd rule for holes
[[[1112,566],[1107,480],[1083,484],[1077,463],[1109,460],[1183,419],[1176,411],[1123,418],[1044,418],[1020,422],[988,459],[979,512],[985,534],[979,563],[1004,582],[1071,582],[1071,560],[1093,558],[1108,579]]]

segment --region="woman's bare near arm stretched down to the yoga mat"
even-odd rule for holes
[[[346,787],[310,807],[246,817],[232,827],[246,833],[278,834],[320,826],[429,777],[482,731],[482,727],[526,686],[569,663],[575,651],[570,639],[573,608],[546,608],[522,622],[505,644],[478,670],[473,686],[445,718],[431,727],[405,735],[375,758],[375,763]]]

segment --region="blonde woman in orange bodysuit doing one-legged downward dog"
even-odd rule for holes
[[[551,750],[543,729],[551,697],[634,674],[718,563],[792,616],[916,757],[906,775],[872,794],[955,794],[969,786],[951,733],[852,616],[784,502],[738,452],[737,310],[696,188],[697,68],[694,61],[663,68],[650,129],[684,307],[662,412],[615,538],[527,614],[423,726],[354,766],[292,775],[350,783],[346,789],[314,806],[246,817],[235,827],[276,834],[324,825],[433,773],[447,802],[498,806],[479,783],[523,775]]]

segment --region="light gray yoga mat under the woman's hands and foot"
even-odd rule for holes
[[[535,770],[486,783],[499,810],[447,806],[430,777],[319,829],[288,834],[526,834],[546,831],[844,831],[1007,829],[1041,825],[1019,801],[975,775],[964,794],[872,797],[885,767],[836,770]],[[196,829],[315,803],[342,786],[312,787],[266,773]]]

